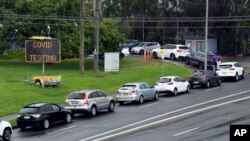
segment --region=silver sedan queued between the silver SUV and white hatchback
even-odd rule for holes
[[[139,102],[142,104],[144,100],[157,100],[159,93],[146,82],[127,83],[119,88],[116,97],[120,105],[123,105],[124,102]]]

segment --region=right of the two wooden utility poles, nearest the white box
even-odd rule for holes
[[[94,16],[95,16],[95,61],[94,72],[97,74],[99,71],[99,36],[100,36],[100,0],[94,0]]]

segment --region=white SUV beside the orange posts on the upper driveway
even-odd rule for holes
[[[187,46],[181,44],[165,44],[161,48],[157,48],[152,51],[153,58],[161,58],[161,51],[163,51],[164,58],[170,58],[171,60],[179,58],[184,60],[189,54],[189,48]]]

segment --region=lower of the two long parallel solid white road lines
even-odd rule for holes
[[[148,124],[144,124],[144,125],[141,125],[141,126],[137,126],[137,127],[131,128],[131,129],[121,131],[119,133],[115,133],[115,134],[112,134],[112,135],[108,135],[108,136],[105,136],[105,137],[95,139],[94,141],[102,141],[102,140],[107,140],[107,139],[110,139],[110,138],[115,138],[117,136],[121,136],[121,135],[124,135],[124,134],[134,133],[134,132],[136,132],[138,130],[143,130],[145,128],[149,128],[150,126],[153,126],[153,125],[156,125],[156,124],[161,124],[161,123],[166,122],[166,121],[174,120],[174,119],[177,119],[177,118],[180,118],[180,117],[184,117],[184,116],[187,116],[187,115],[199,113],[199,112],[202,112],[202,111],[210,110],[210,109],[213,109],[213,108],[221,107],[221,106],[224,106],[224,105],[227,105],[227,104],[243,101],[243,100],[246,100],[246,99],[250,99],[250,96],[240,98],[240,99],[237,99],[237,100],[231,100],[231,101],[228,101],[228,102],[224,102],[224,103],[221,103],[221,104],[216,104],[216,105],[205,107],[205,108],[201,108],[201,109],[198,109],[198,110],[186,112],[186,113],[183,113],[183,114],[172,116],[170,118],[166,118],[166,119],[158,120],[158,121],[151,122],[151,123],[148,123]]]

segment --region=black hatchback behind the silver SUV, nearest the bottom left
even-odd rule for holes
[[[71,111],[53,103],[29,104],[17,115],[17,127],[21,130],[30,126],[48,129],[51,124],[58,122],[71,122]]]

